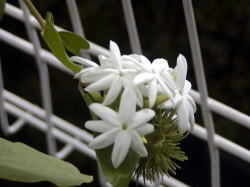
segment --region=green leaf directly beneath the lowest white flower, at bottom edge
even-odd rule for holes
[[[112,147],[96,151],[97,158],[104,173],[113,187],[128,187],[132,174],[139,161],[139,156],[129,151],[125,161],[119,168],[114,168],[111,162]]]

